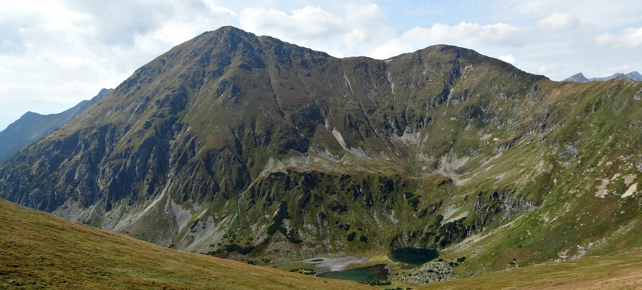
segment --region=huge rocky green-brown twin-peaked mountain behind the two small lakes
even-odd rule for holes
[[[238,260],[431,248],[465,277],[640,246],[641,97],[462,47],[334,58],[224,27],[10,158],[0,196]]]

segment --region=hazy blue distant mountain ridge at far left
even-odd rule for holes
[[[110,91],[111,89],[102,89],[94,98],[81,101],[78,105],[58,114],[41,115],[26,112],[20,119],[0,132],[0,164],[24,146],[45,137],[71,121]]]

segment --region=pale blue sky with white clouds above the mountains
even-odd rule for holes
[[[434,44],[563,80],[642,71],[639,0],[3,0],[0,130],[114,88],[205,31],[236,26],[332,56],[385,59]]]

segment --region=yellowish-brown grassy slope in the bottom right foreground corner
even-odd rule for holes
[[[513,268],[418,289],[640,289],[642,249]]]

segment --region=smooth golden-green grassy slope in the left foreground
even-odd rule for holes
[[[4,200],[0,232],[1,289],[369,288],[162,248]]]

